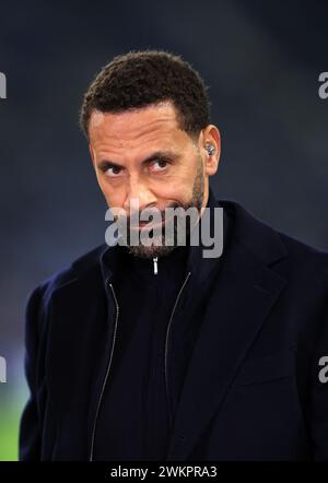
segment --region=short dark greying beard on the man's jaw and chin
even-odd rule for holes
[[[160,226],[155,228],[152,228],[151,226],[148,228],[145,225],[144,228],[141,228],[141,232],[140,229],[136,231],[132,228],[134,232],[132,233],[130,228],[131,216],[125,216],[124,219],[117,216],[116,224],[121,236],[120,244],[125,245],[128,251],[134,257],[144,259],[163,257],[171,254],[177,246],[188,245],[190,232],[192,229],[192,223],[195,224],[196,221],[195,217],[192,220],[191,217],[186,216],[186,212],[191,209],[191,213],[197,213],[197,216],[199,217],[203,201],[203,166],[202,158],[199,155],[190,200],[185,203],[171,203],[168,207],[166,207],[165,210],[157,210],[155,220],[156,222],[161,221],[162,224],[160,224]],[[172,213],[172,211],[167,209],[175,210],[175,219],[173,219],[172,216],[167,216],[167,212]],[[153,210],[151,209],[142,210],[142,219],[152,216],[152,211]],[[138,212],[138,215],[137,213],[133,214],[137,220],[140,220],[140,213],[141,212]],[[136,233],[139,237],[139,240],[140,237],[142,239],[142,236],[144,235],[147,238],[147,244],[144,244],[143,241],[139,241],[137,245],[132,244],[131,240],[133,239],[133,237],[136,240]]]

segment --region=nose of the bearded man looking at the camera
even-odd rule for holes
[[[130,176],[127,198],[124,204],[126,211],[141,211],[145,208],[155,207],[157,199],[151,189],[147,186],[147,181],[141,177]]]

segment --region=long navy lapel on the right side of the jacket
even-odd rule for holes
[[[272,245],[267,262],[285,255],[278,239]],[[168,460],[185,460],[192,452],[220,411],[234,375],[285,285],[285,280],[238,237],[233,237],[222,257],[181,389]]]

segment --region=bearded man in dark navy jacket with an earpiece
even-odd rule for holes
[[[117,57],[81,125],[125,243],[30,297],[20,459],[328,459],[328,256],[214,199],[220,133],[199,74],[167,52]],[[185,246],[130,244],[144,223],[124,234],[124,214],[157,210],[166,226],[167,208],[199,214]],[[203,257],[191,234],[206,209],[215,229],[215,208],[223,252]]]

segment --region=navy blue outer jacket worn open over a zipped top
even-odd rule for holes
[[[328,254],[272,229],[235,201],[219,205],[234,221],[229,246],[220,259],[203,259],[201,270],[189,261],[176,308],[183,320],[220,262],[167,460],[328,460],[328,378],[319,378],[328,356]],[[81,257],[28,299],[31,397],[21,460],[92,459],[118,319],[110,274],[104,285],[104,250]]]

